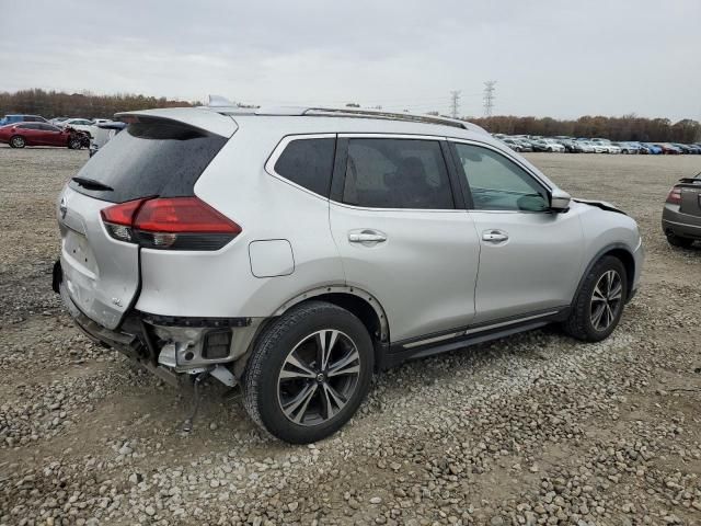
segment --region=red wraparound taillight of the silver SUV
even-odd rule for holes
[[[101,211],[107,232],[150,249],[219,250],[241,227],[197,197],[129,201]]]

